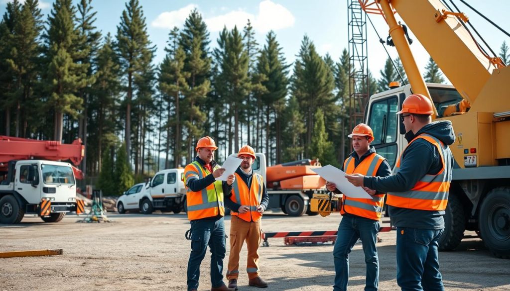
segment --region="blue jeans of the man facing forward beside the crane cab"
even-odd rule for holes
[[[334,291],[347,290],[349,282],[349,253],[358,239],[361,239],[365,262],[367,263],[367,276],[365,291],[377,290],[379,285],[379,260],[375,242],[379,222],[359,216],[343,216],[338,227],[337,240],[333,249],[335,257],[335,285]]]

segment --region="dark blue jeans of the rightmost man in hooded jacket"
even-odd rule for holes
[[[402,291],[444,290],[438,245],[444,229],[397,228],[397,283]]]

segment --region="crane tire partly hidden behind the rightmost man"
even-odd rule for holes
[[[466,230],[466,217],[461,199],[452,195],[451,192],[445,212],[445,232],[439,239],[439,250],[451,251],[461,243]]]

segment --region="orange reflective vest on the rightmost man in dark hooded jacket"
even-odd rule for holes
[[[448,146],[435,137],[422,134],[414,138],[407,146],[412,144],[417,139],[424,139],[438,148],[441,155],[441,163],[443,168],[436,175],[423,176],[416,182],[413,189],[405,192],[388,193],[386,203],[400,208],[420,209],[420,210],[444,210],[448,203],[448,190],[450,189],[451,182],[451,151]],[[407,148],[407,147],[406,147]],[[402,152],[402,154],[405,152]],[[400,160],[402,154],[398,158],[395,167],[395,173],[398,173],[400,168]],[[430,158],[426,156],[424,158]]]

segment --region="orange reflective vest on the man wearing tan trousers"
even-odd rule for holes
[[[241,179],[241,176],[238,173],[234,173],[234,175],[236,175],[236,180],[232,186],[231,200],[241,205],[248,205],[250,211],[243,214],[232,211],[231,215],[248,222],[258,221],[262,217],[262,213],[257,211],[257,206],[259,206],[262,201],[262,190],[264,190],[262,176],[253,173],[251,177],[251,187],[248,189],[248,185]]]

